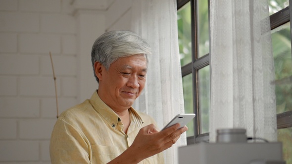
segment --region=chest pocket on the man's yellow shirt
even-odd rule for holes
[[[92,145],[93,164],[106,164],[120,155],[115,146]]]

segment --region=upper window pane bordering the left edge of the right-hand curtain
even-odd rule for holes
[[[199,58],[209,53],[208,0],[197,0],[197,20]]]

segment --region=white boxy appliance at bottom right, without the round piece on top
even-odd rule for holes
[[[199,143],[178,149],[179,164],[286,164],[282,143]]]

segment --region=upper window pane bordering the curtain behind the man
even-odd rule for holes
[[[181,66],[184,66],[192,62],[191,3],[180,8],[177,15]]]

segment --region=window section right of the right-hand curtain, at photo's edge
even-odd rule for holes
[[[283,156],[292,164],[292,51],[289,0],[269,0],[271,36],[275,67],[278,141]]]

